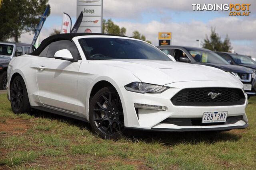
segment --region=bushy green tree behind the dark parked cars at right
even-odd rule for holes
[[[216,33],[215,28],[211,28],[211,35],[210,39],[206,35],[206,38],[204,39],[203,48],[212,50],[212,51],[224,51],[228,52],[232,49],[230,39],[228,38],[228,35],[226,35],[226,38],[224,41],[221,40],[221,37]]]

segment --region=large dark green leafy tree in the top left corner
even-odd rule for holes
[[[48,0],[4,0],[0,10],[0,41],[14,38],[18,42],[22,33],[35,32],[47,3]]]

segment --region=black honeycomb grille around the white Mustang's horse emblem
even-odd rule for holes
[[[210,92],[219,94],[212,99]],[[245,96],[238,88],[186,88],[171,98],[175,106],[234,106],[245,103]]]

